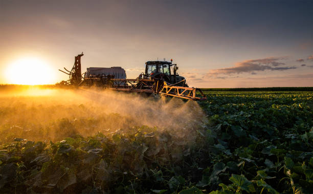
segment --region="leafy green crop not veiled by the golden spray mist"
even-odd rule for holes
[[[205,94],[198,102],[204,126],[188,133],[181,126],[180,135],[129,123],[105,135],[68,132],[71,137],[52,142],[19,134],[3,141],[0,190],[313,193],[313,93]],[[63,120],[60,133],[75,122]]]

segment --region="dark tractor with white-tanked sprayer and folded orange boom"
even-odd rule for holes
[[[111,68],[87,68],[81,74],[80,58],[83,53],[75,57],[74,66],[71,71],[64,68],[61,71],[70,76],[67,81],[60,82],[64,85],[75,87],[97,86],[103,89],[124,92],[139,92],[162,96],[172,96],[189,100],[205,100],[206,96],[202,90],[189,88],[186,79],[177,74],[177,64],[168,61],[147,61],[145,72],[136,79],[126,79],[125,70],[122,67]],[[84,76],[82,76],[84,75]],[[196,91],[199,95],[196,95]]]

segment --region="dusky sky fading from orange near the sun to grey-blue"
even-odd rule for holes
[[[23,58],[68,79],[121,66],[136,78],[149,60],[178,64],[191,87],[313,87],[313,1],[0,0],[0,83]],[[47,70],[47,69],[46,69]],[[43,71],[42,71],[43,72]],[[42,76],[39,76],[40,79]]]

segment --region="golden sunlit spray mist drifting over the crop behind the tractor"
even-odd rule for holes
[[[136,93],[117,95],[96,89],[17,86],[0,93],[0,104],[4,113],[0,117],[0,143],[10,141],[10,133],[37,141],[59,141],[74,134],[88,137],[98,132],[127,132],[143,125],[178,137],[188,134],[187,140],[194,141],[194,129],[202,129],[209,122],[195,101],[146,98]]]

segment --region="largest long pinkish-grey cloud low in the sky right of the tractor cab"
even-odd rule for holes
[[[289,69],[297,69],[296,67],[280,67],[285,65],[279,60],[286,59],[287,57],[269,57],[263,59],[252,59],[237,62],[234,67],[221,68],[216,70],[210,70],[208,75],[218,74],[240,74],[240,73],[255,73],[255,71],[284,71]]]

